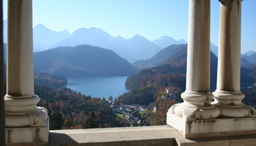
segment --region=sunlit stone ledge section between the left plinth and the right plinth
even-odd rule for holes
[[[130,143],[133,143],[134,145],[134,142],[140,142],[144,140],[158,141],[159,139],[162,139],[163,141],[174,142],[173,137],[176,134],[178,133],[174,131],[173,128],[169,128],[166,125],[151,127],[50,130],[49,146],[59,144],[73,145],[81,143],[107,144],[108,142],[116,143],[115,145],[119,145],[127,141],[130,141]],[[181,134],[178,135],[182,137]],[[161,140],[158,142],[161,142]]]

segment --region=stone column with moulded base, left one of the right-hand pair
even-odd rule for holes
[[[210,102],[210,0],[189,1],[188,57],[184,102],[170,112],[186,120],[212,119],[219,109]]]

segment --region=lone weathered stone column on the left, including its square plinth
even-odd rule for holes
[[[9,0],[4,97],[7,143],[46,142],[47,110],[36,107],[39,100],[34,94],[32,1]]]

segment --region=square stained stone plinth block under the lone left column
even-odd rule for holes
[[[12,145],[48,145],[49,117],[47,127],[5,128],[7,146]]]

